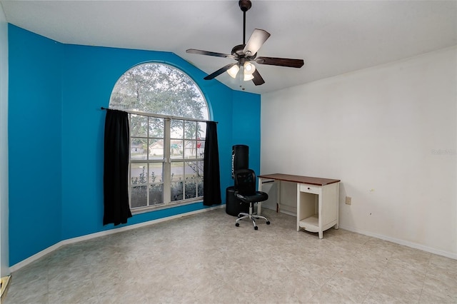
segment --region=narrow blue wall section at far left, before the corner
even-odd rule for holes
[[[61,240],[62,45],[9,25],[9,261]]]

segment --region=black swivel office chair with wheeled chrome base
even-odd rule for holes
[[[268,194],[261,191],[256,191],[256,173],[251,169],[240,169],[233,173],[235,178],[235,196],[243,203],[249,204],[249,213],[241,212],[238,214],[235,226],[240,226],[239,221],[244,218],[250,218],[254,229],[257,230],[256,219],[263,218],[267,225],[270,225],[270,221],[265,216],[258,216],[253,213],[254,203],[266,201]]]

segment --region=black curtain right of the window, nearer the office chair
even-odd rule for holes
[[[219,173],[219,148],[217,146],[217,123],[206,123],[205,159],[203,168],[203,204],[221,204],[221,177]]]

